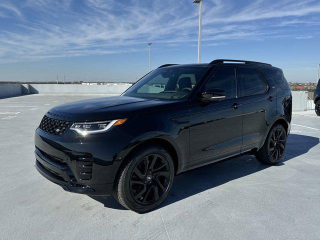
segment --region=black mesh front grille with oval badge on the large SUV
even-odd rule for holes
[[[47,133],[60,136],[70,127],[70,125],[70,121],[54,119],[44,115],[39,128]]]

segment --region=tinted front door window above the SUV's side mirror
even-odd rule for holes
[[[236,96],[236,80],[234,68],[218,68],[205,84],[205,89],[219,88],[225,91],[226,98]]]

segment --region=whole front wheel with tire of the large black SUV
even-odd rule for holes
[[[173,176],[174,166],[169,152],[161,146],[145,146],[119,169],[113,186],[114,198],[132,211],[149,211],[167,196]]]

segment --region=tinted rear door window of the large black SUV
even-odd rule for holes
[[[239,68],[239,79],[244,96],[261,94],[267,89],[264,80],[254,68]]]

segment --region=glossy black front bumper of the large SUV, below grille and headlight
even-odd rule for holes
[[[34,135],[35,167],[64,190],[107,196],[112,192],[117,156],[129,141],[120,130],[83,137],[72,131],[55,136],[38,128]]]

